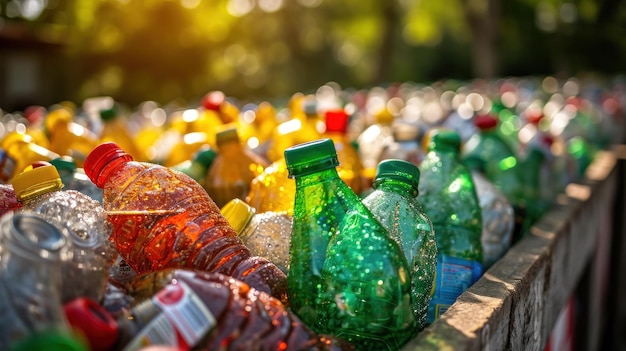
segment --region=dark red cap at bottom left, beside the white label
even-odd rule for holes
[[[79,297],[63,305],[69,324],[83,333],[92,351],[110,350],[119,329],[111,314],[97,302]]]

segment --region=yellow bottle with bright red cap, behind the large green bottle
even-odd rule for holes
[[[348,139],[348,119],[350,116],[343,109],[328,110],[324,114],[326,131],[323,136],[335,144],[339,166],[339,177],[348,184],[355,194],[360,195],[365,186],[363,164],[354,145]]]

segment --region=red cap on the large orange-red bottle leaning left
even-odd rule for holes
[[[93,149],[83,164],[85,174],[91,181],[98,186],[104,187],[104,182],[108,178],[109,172],[112,170],[109,165],[112,161],[120,160],[122,162],[132,161],[133,157],[126,153],[116,143],[108,142],[98,145]]]

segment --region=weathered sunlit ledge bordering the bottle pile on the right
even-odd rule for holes
[[[585,179],[403,350],[543,350],[597,243],[612,238],[619,153],[601,152]]]

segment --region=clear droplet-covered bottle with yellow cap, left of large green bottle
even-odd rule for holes
[[[290,216],[278,212],[256,212],[254,207],[241,199],[230,200],[221,212],[253,255],[269,259],[287,273]]]

